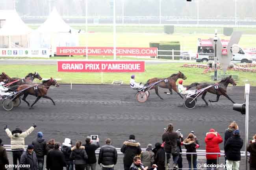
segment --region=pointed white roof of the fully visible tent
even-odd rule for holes
[[[75,31],[61,18],[56,8],[52,10],[47,20],[37,31],[40,33],[67,33],[69,31]]]

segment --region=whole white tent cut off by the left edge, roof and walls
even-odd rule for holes
[[[0,10],[0,48],[27,48],[30,29],[15,10]]]

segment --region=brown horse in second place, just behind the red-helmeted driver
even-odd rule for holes
[[[161,87],[161,88],[167,88],[169,89],[170,93],[173,94],[173,91],[172,89],[178,94],[180,95],[180,97],[183,99],[182,95],[179,93],[178,89],[177,89],[177,86],[176,86],[176,81],[178,79],[183,79],[183,80],[186,80],[187,77],[182,73],[182,72],[178,72],[176,74],[173,74],[171,75],[170,77],[167,77],[166,78],[168,80],[168,82],[164,82],[164,78],[157,78],[157,77],[154,77],[152,79],[149,79],[147,80],[147,83],[144,85],[144,86],[149,86],[150,84],[153,84],[155,82],[158,82],[160,80],[163,80],[161,82],[159,82],[158,84],[155,84],[153,85],[151,88],[148,87],[146,90],[152,90],[152,89],[155,89],[156,91],[156,95],[158,95],[158,97],[160,97],[160,99],[163,100],[163,98],[159,95],[158,93],[158,86]],[[166,93],[166,92],[165,92]]]

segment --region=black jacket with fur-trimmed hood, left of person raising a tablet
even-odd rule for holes
[[[76,146],[71,148],[71,154],[70,159],[75,160],[75,165],[84,165],[86,164],[86,159],[88,158],[84,146],[80,146],[79,148],[76,148]]]

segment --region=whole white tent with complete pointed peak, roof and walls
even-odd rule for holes
[[[78,31],[64,22],[56,8],[52,10],[47,20],[33,33],[32,47],[52,48],[58,46],[78,46]]]

